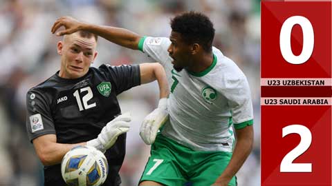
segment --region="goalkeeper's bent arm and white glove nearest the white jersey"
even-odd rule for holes
[[[167,112],[167,96],[169,94],[169,86],[167,83],[166,73],[162,65],[159,63],[140,64],[141,83],[149,83],[154,80],[158,81],[160,101],[158,103],[158,107],[145,117],[140,127],[140,137],[147,145],[154,143],[159,128],[169,118]]]

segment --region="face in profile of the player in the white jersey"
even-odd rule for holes
[[[190,63],[190,45],[185,43],[181,39],[181,34],[178,32],[171,33],[169,40],[172,42],[169,45],[168,53],[172,57],[173,68],[180,72],[183,68],[186,68]]]

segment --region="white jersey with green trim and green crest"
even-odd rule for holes
[[[252,125],[252,101],[243,72],[213,47],[213,63],[200,73],[176,72],[168,38],[143,37],[139,48],[165,68],[169,123],[162,134],[198,151],[232,152],[235,128]]]

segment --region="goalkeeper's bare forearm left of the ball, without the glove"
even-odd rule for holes
[[[76,143],[76,144],[62,144],[62,143],[53,143],[48,145],[42,150],[42,153],[39,154],[39,158],[42,161],[44,166],[57,165],[61,163],[64,155],[73,147],[77,145],[86,145],[86,143]]]

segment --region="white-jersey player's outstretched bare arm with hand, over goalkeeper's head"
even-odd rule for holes
[[[91,23],[78,21],[73,17],[60,17],[53,24],[51,32],[54,34],[62,26],[64,26],[64,30],[57,32],[58,36],[72,34],[73,32],[77,32],[77,30],[86,30],[97,34],[98,36],[103,37],[112,43],[122,45],[125,48],[138,50],[140,36],[124,28],[94,25]]]

